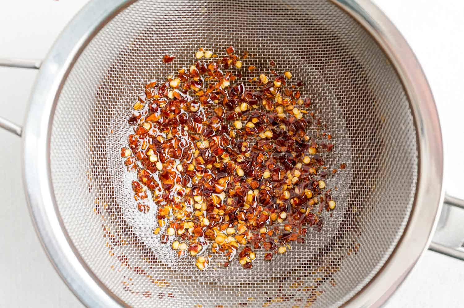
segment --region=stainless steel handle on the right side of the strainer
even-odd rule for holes
[[[464,260],[464,200],[445,195],[429,249]]]

